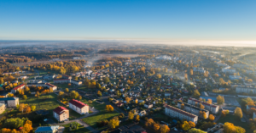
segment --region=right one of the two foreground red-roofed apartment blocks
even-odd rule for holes
[[[68,103],[69,108],[72,108],[75,112],[79,114],[89,114],[89,106],[78,100],[72,99]]]

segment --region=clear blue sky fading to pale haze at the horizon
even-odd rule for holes
[[[256,41],[255,0],[1,0],[1,40]]]

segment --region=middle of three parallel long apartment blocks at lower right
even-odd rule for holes
[[[177,102],[177,107],[181,109],[182,103],[183,102]],[[183,104],[184,104],[183,110],[189,112],[190,114],[195,114],[195,115],[199,116],[200,118],[203,118],[203,116],[201,116],[200,112],[205,112],[207,114],[207,118],[209,117],[209,111],[207,109],[198,108],[189,103],[183,103]]]

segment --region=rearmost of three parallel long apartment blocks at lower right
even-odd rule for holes
[[[191,97],[189,98],[188,103],[194,106],[195,106],[195,103],[197,104],[201,103],[203,106],[205,106],[205,109],[209,110],[212,114],[218,114],[218,108],[219,108],[218,105],[205,103]]]

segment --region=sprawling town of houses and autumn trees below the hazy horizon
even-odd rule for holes
[[[190,48],[20,65],[1,56],[2,132],[256,130],[255,69],[242,62],[246,55]],[[100,53],[107,51],[119,50]]]

